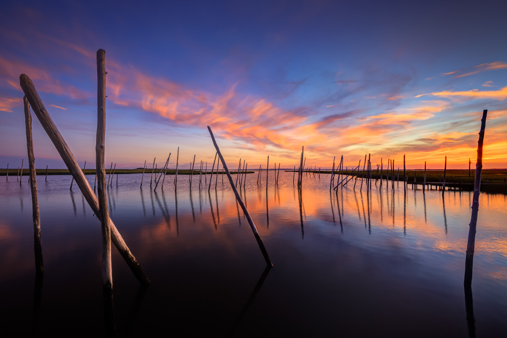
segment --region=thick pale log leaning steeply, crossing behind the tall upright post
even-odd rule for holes
[[[68,170],[74,176],[76,184],[79,186],[79,189],[81,190],[81,193],[83,194],[84,198],[90,205],[90,208],[96,215],[99,215],[99,205],[97,197],[93,193],[90,184],[88,184],[88,181],[86,180],[85,175],[81,171],[81,168],[79,168],[78,162],[74,158],[74,155],[70,151],[67,143],[65,142],[62,135],[58,131],[58,128],[56,128],[53,120],[49,116],[48,111],[46,110],[44,103],[42,103],[41,97],[35,90],[32,81],[25,74],[21,74],[19,77],[19,83],[21,85],[21,89],[26,95],[26,98],[28,99],[28,102],[30,102],[33,112],[35,113],[35,116],[37,116],[37,118],[41,122],[42,127],[44,128],[49,138],[53,142],[56,150],[58,151],[58,154],[60,154],[60,157],[67,166]],[[113,240],[113,243],[117,247],[123,259],[125,259],[125,261],[127,262],[127,265],[129,266],[130,270],[133,272],[133,274],[141,284],[145,285],[149,284],[150,280],[142,272],[139,263],[135,259],[134,255],[132,254],[128,246],[125,244],[122,236],[116,229],[113,221],[109,219],[108,223],[111,228],[111,239]]]

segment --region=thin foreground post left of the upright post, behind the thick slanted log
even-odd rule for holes
[[[28,153],[28,169],[30,171],[30,190],[32,198],[32,219],[33,219],[33,249],[35,253],[35,272],[44,271],[44,262],[42,259],[42,240],[41,240],[41,214],[39,213],[39,198],[37,197],[37,174],[35,174],[35,157],[33,156],[33,140],[31,133],[31,115],[30,104],[23,97],[25,111],[25,130],[26,130],[26,151]]]

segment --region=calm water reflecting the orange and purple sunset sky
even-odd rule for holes
[[[278,187],[249,174],[242,196],[265,262],[221,176],[192,193],[188,176],[150,190],[141,175],[108,190],[110,214],[152,283],[142,289],[113,248],[120,336],[503,336],[507,332],[507,208],[481,194],[473,298],[464,257],[471,192],[350,186],[292,173]],[[87,176],[93,184],[94,176]],[[0,180],[3,336],[104,333],[100,222],[69,176],[39,178],[45,272],[36,279],[27,178]],[[208,177],[209,179],[209,177]],[[137,181],[137,182],[136,182]],[[209,182],[209,181],[208,181]],[[349,183],[350,185],[351,183]],[[204,184],[203,184],[204,185]],[[465,306],[465,303],[467,306]],[[7,335],[4,335],[7,334]]]

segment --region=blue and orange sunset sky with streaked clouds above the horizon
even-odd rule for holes
[[[0,167],[27,158],[27,74],[94,167],[96,51],[106,163],[507,168],[507,4],[489,1],[9,1],[0,5]],[[63,168],[32,114],[35,166]]]

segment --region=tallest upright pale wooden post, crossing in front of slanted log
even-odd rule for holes
[[[98,215],[102,234],[102,290],[106,306],[106,323],[113,322],[113,270],[111,267],[111,229],[105,185],[105,51],[97,51],[97,139],[95,170],[98,178]],[[146,161],[144,162],[146,165]],[[142,185],[142,181],[141,181]],[[113,329],[114,330],[114,329]]]

